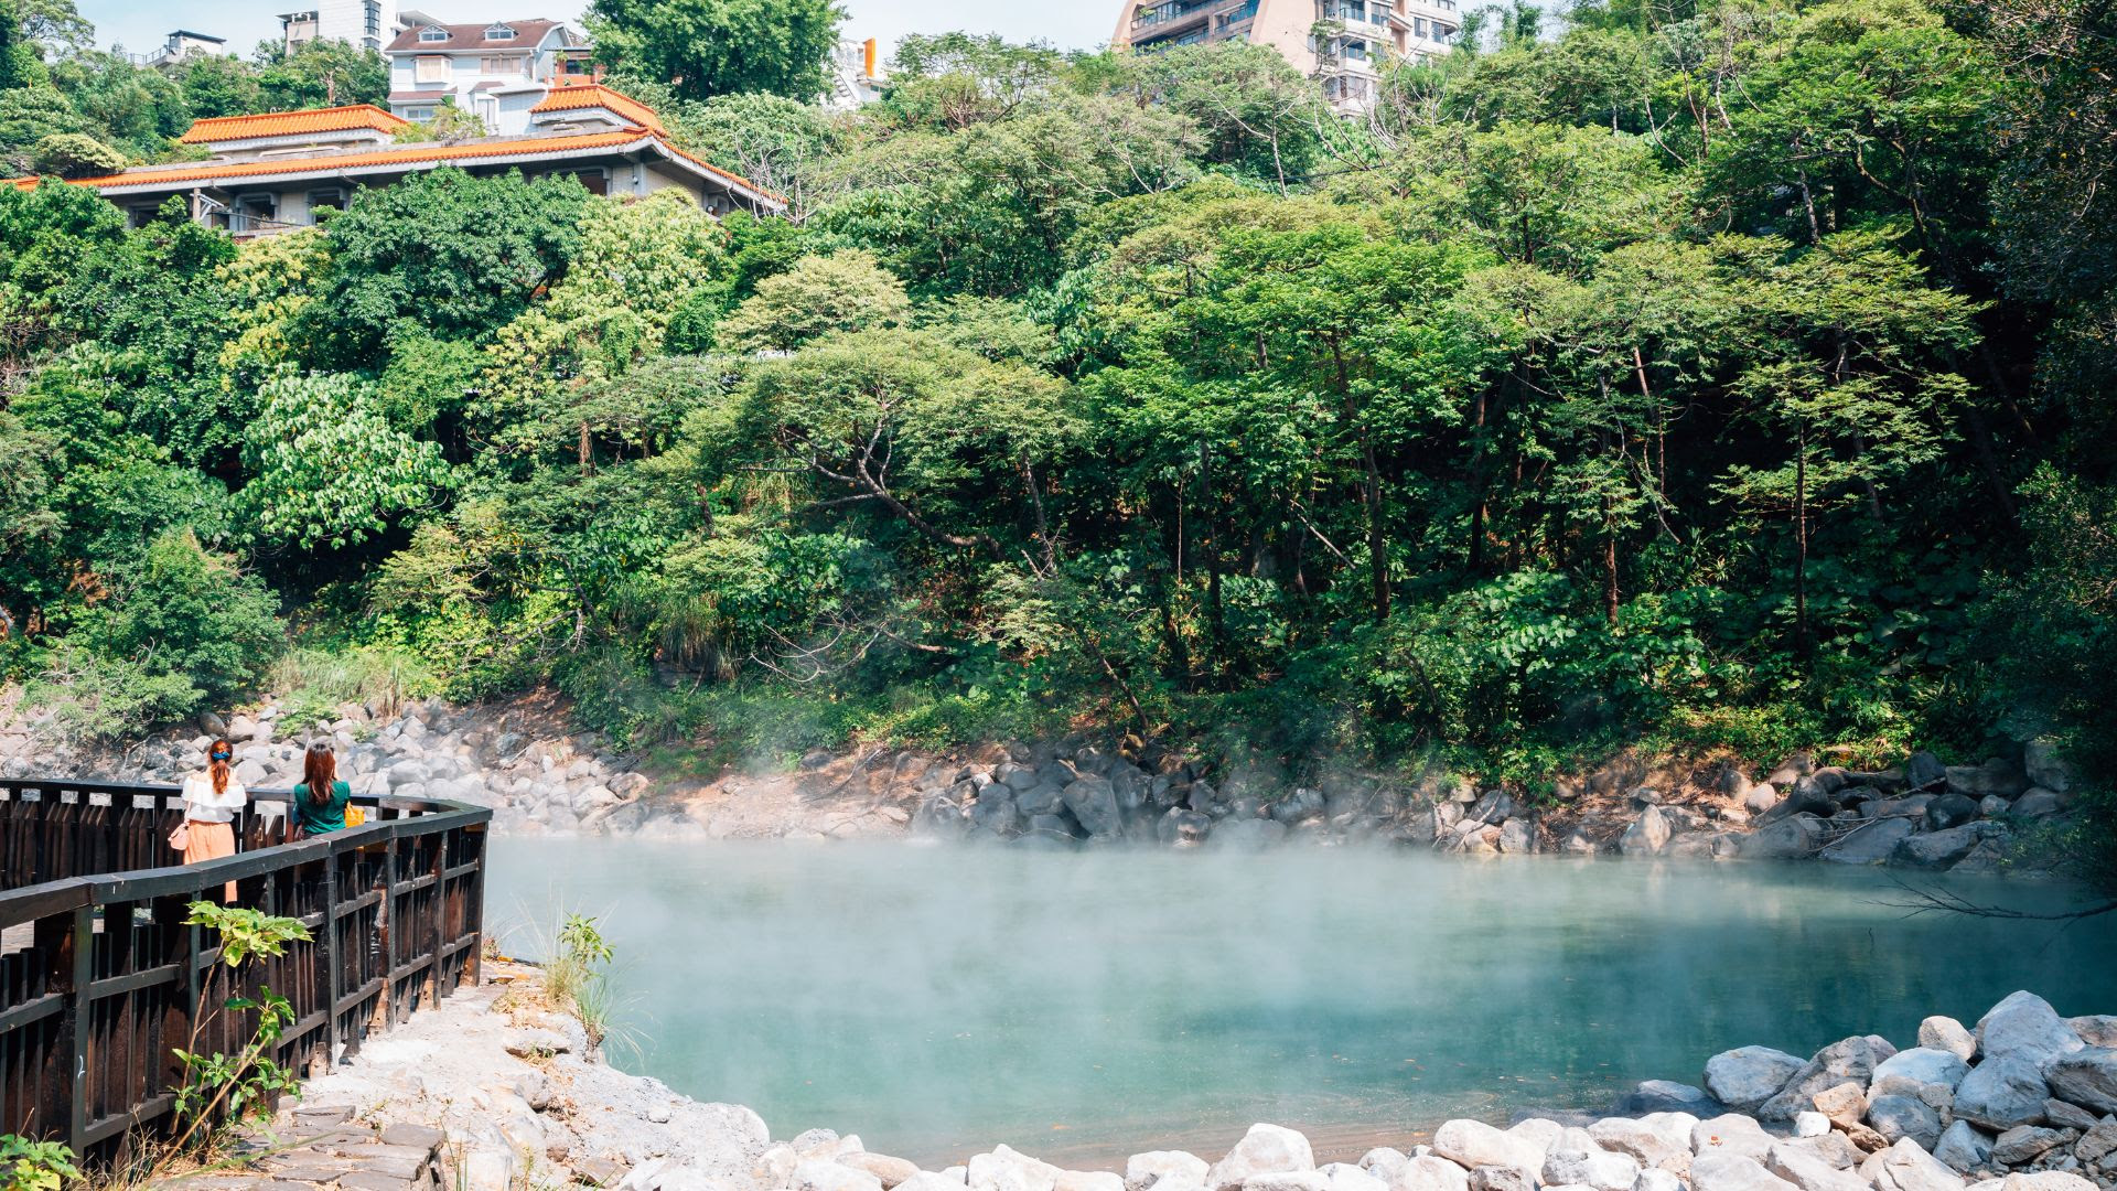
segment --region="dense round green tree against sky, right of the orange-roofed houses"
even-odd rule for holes
[[[610,66],[667,78],[688,100],[824,95],[845,11],[832,0],[595,0],[589,32]]]

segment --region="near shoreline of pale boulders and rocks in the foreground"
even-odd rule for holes
[[[188,1191],[2109,1191],[2117,1187],[2117,1017],[2060,1017],[2018,992],[1975,1026],[1929,1017],[1916,1047],[1867,1034],[1812,1057],[1740,1047],[1702,1085],[1649,1081],[1613,1115],[1454,1119],[1317,1163],[1308,1138],[1260,1123],[1217,1159],[1150,1151],[1063,1170],[1010,1146],[942,1170],[809,1130],[773,1140],[735,1104],[701,1104],[608,1066],[536,968],[487,983],[366,1043],[305,1087],[246,1172]],[[417,1138],[345,1149],[358,1138]],[[320,1170],[315,1149],[337,1166]],[[404,1153],[400,1153],[404,1151]],[[379,1155],[385,1170],[362,1168]],[[322,1180],[318,1180],[322,1178]]]

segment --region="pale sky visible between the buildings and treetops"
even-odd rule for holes
[[[146,53],[161,45],[174,28],[229,38],[229,51],[243,57],[256,42],[277,36],[275,13],[303,6],[303,0],[76,0],[80,15],[95,21],[95,42],[110,49],[123,45]],[[400,8],[419,8],[445,21],[493,21],[508,17],[574,17],[582,0],[398,0]],[[851,19],[845,32],[853,38],[881,38],[889,47],[904,34],[942,34],[970,30],[1001,34],[1010,40],[1048,40],[1058,49],[1097,49],[1109,40],[1118,23],[1118,0],[1044,0],[1012,4],[1006,0],[840,0]],[[313,6],[313,4],[311,4]]]

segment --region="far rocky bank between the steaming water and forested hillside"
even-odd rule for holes
[[[1001,742],[961,754],[813,752],[792,771],[658,778],[597,733],[572,731],[553,699],[457,708],[343,704],[292,723],[279,701],[201,716],[123,752],[44,748],[36,723],[0,729],[0,771],[174,782],[235,742],[237,776],[284,786],[307,740],[326,737],[354,788],[493,807],[512,835],[665,839],[902,837],[1099,848],[1253,850],[1289,841],[1385,841],[1446,854],[1821,858],[1952,871],[2034,871],[2022,848],[2064,824],[2075,778],[2043,744],[1977,765],[1916,752],[1888,769],[1795,754],[1766,774],[1727,759],[1647,765],[1620,757],[1545,797],[1450,776],[1213,771],[1139,742]]]

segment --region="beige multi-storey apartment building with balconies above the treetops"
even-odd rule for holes
[[[1317,78],[1342,112],[1365,110],[1389,59],[1448,53],[1456,0],[1126,0],[1111,49],[1249,40]]]

